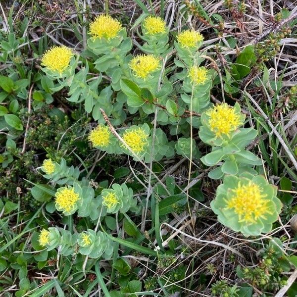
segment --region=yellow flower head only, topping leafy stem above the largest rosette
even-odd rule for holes
[[[209,116],[209,128],[216,137],[222,137],[223,134],[229,137],[230,133],[237,130],[244,121],[241,114],[236,113],[235,108],[227,103],[209,108],[206,115]]]

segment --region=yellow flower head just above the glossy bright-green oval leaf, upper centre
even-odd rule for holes
[[[148,75],[159,69],[159,59],[152,54],[140,54],[129,63],[130,69],[136,77],[146,79]]]

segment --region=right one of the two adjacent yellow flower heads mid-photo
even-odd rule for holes
[[[148,135],[140,127],[126,130],[123,134],[123,140],[136,154],[144,151],[148,145]]]

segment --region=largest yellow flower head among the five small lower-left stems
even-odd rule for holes
[[[79,194],[74,192],[73,188],[63,187],[62,190],[57,191],[55,196],[56,205],[62,209],[62,211],[70,212],[76,206],[76,202],[79,199]]]

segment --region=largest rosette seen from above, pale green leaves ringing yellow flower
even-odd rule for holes
[[[221,224],[255,236],[270,232],[277,221],[282,203],[276,195],[277,187],[262,175],[226,175],[210,206]]]

